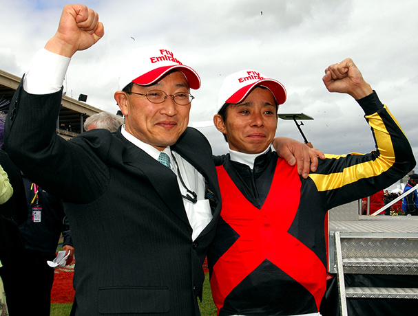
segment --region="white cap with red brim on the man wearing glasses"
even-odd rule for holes
[[[151,45],[135,49],[124,60],[119,76],[119,89],[134,82],[140,85],[153,84],[160,80],[171,69],[177,69],[185,75],[191,89],[200,88],[200,77],[191,69],[183,65],[171,49],[165,45]]]

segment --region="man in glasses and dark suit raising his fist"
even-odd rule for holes
[[[103,34],[96,12],[65,6],[14,95],[6,148],[64,201],[76,315],[199,315],[220,192],[209,142],[187,128],[198,74],[167,47],[147,47],[121,76],[115,99],[125,124],[117,132],[95,129],[69,141],[55,134],[70,58]]]

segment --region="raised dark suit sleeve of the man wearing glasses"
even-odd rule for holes
[[[106,160],[116,137],[103,129],[68,141],[56,135],[61,98],[62,90],[27,93],[21,82],[6,117],[4,144],[13,163],[41,188],[65,201],[90,203],[107,188]]]

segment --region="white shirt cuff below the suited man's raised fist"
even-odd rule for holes
[[[31,94],[59,91],[71,58],[49,52],[45,48],[36,53],[23,78],[23,89]]]

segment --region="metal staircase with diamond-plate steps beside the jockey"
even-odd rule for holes
[[[353,229],[345,230],[353,231]],[[335,231],[330,234],[331,236],[335,242],[333,256],[335,261],[330,262],[330,272],[337,273],[342,316],[348,316],[347,298],[418,299],[418,287],[346,287],[344,278],[347,274],[418,275],[417,230],[415,232],[379,232],[379,229],[370,232]]]

